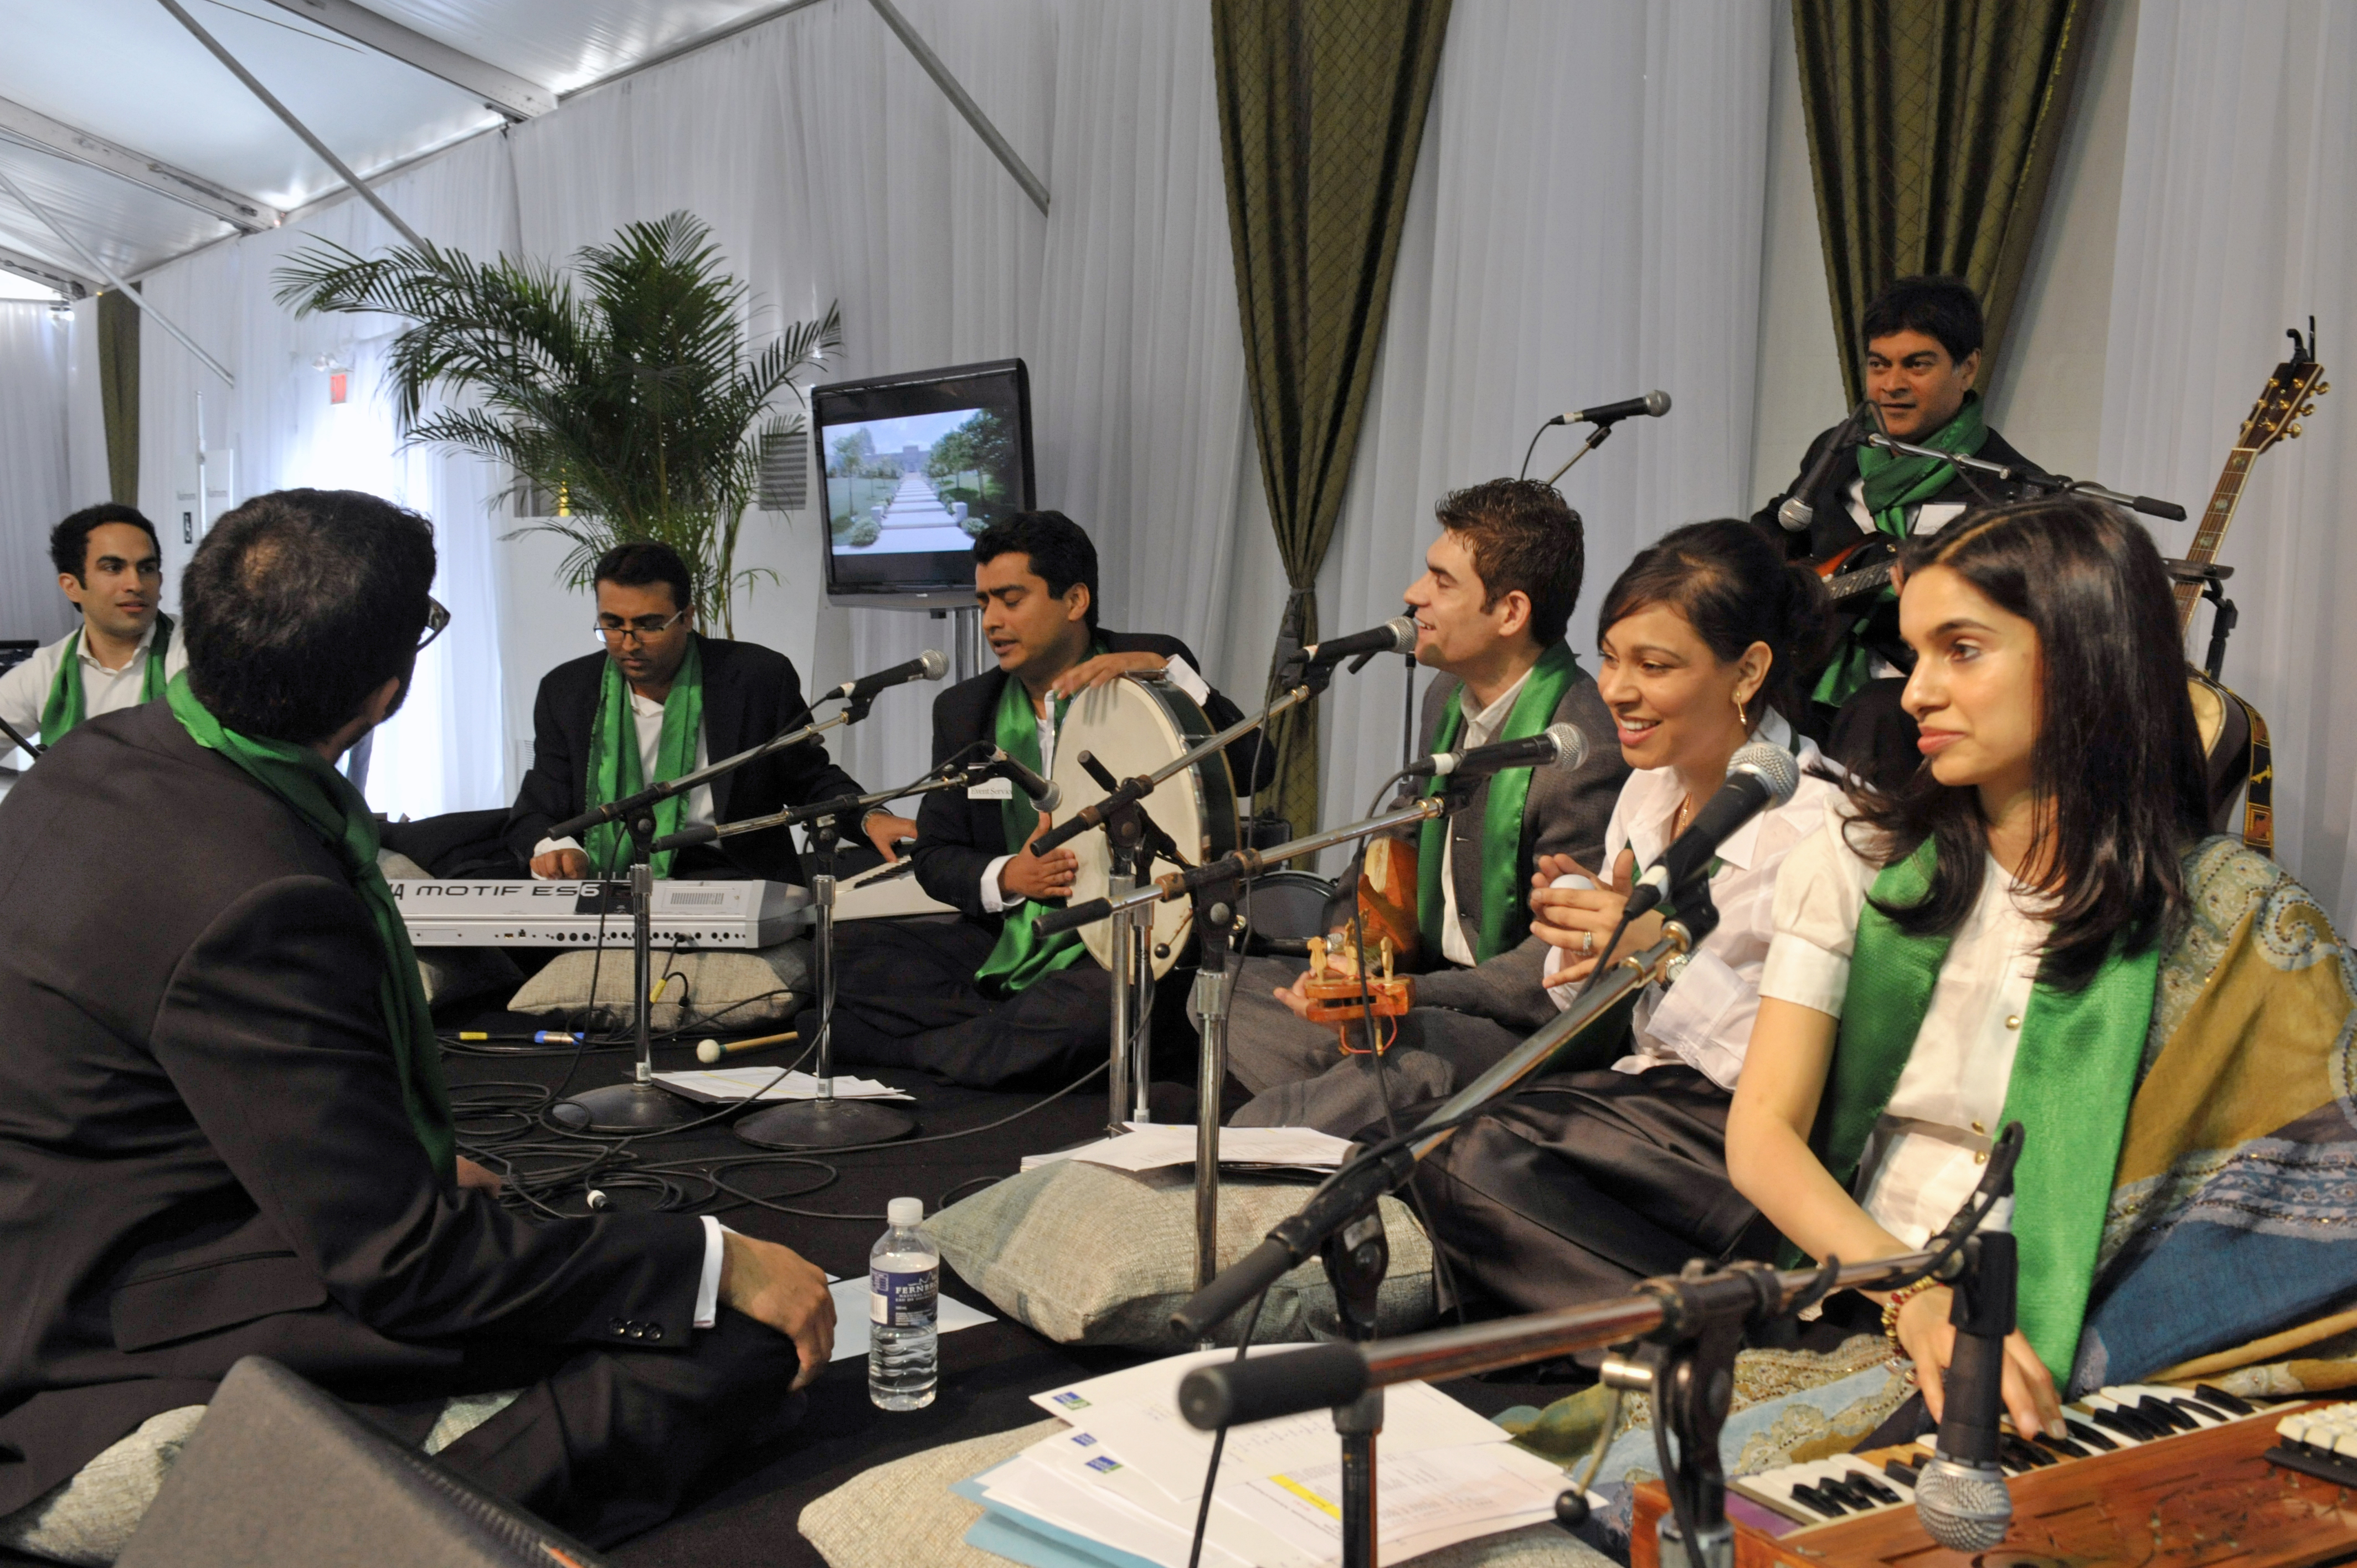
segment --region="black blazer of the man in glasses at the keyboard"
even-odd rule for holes
[[[790,658],[752,641],[721,641],[702,634],[695,641],[705,658],[705,752],[709,762],[733,757],[780,731],[811,722],[811,705],[801,700],[801,679]],[[549,837],[552,825],[580,816],[587,806],[582,785],[589,778],[589,722],[596,717],[599,681],[603,679],[603,653],[566,660],[540,679],[540,698],[533,703],[533,771],[523,776],[516,804],[507,813],[507,846],[526,863],[533,858],[533,844]],[[721,823],[740,823],[785,806],[808,806],[816,799],[858,792],[860,785],[851,773],[827,757],[827,743],[806,740],[714,778],[712,816]],[[844,839],[865,842],[856,830],[846,830]],[[794,854],[792,828],[768,828],[719,844],[698,844],[672,861],[672,875],[806,879],[801,856]]]

